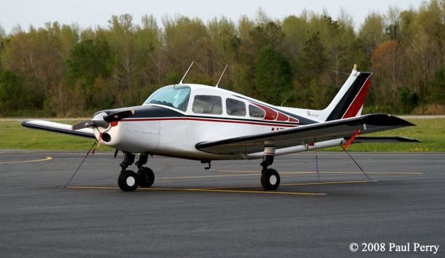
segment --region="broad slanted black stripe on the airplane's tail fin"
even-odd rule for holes
[[[362,89],[362,86],[371,74],[372,73],[370,72],[360,72],[359,76],[355,78],[353,85],[349,87],[346,94],[343,95],[340,102],[334,107],[334,110],[327,116],[326,121],[337,120],[343,117],[350,104],[353,103],[355,96],[359,94],[360,89]]]

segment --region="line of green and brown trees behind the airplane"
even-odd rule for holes
[[[373,71],[364,113],[445,113],[445,0],[417,9],[370,12],[355,30],[347,12],[303,11],[272,19],[259,9],[237,22],[203,22],[129,14],[108,26],[0,26],[1,116],[90,116],[140,105],[154,90],[178,83],[215,85],[291,107],[321,109],[353,64]]]

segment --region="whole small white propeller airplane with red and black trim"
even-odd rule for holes
[[[192,62],[193,65],[193,62]],[[142,104],[96,112],[74,126],[25,120],[22,126],[95,138],[124,154],[118,186],[122,191],[151,187],[148,155],[208,163],[212,160],[261,160],[261,186],[275,190],[280,174],[269,168],[274,157],[307,150],[368,142],[419,142],[407,137],[360,137],[405,126],[390,114],[361,115],[371,72],[353,71],[323,110],[270,105],[216,86],[183,83],[157,89]],[[227,68],[227,66],[226,66]],[[135,163],[138,171],[128,169]]]

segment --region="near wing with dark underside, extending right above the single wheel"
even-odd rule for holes
[[[287,148],[304,145],[308,142],[351,137],[357,130],[362,130],[361,134],[367,134],[405,126],[415,125],[389,114],[368,114],[362,117],[314,123],[258,135],[205,141],[196,144],[195,147],[198,150],[216,154],[259,153],[264,151],[265,145]]]

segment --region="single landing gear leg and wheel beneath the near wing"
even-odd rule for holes
[[[275,146],[264,147],[264,157],[261,166],[261,186],[265,190],[275,190],[280,186],[280,174],[275,169],[268,169],[268,166],[273,164],[273,157],[275,155]]]

